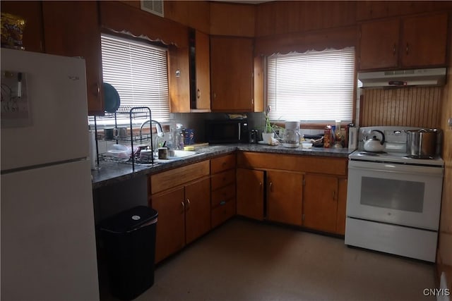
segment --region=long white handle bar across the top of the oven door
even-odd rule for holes
[[[415,173],[425,176],[439,176],[442,177],[444,168],[441,166],[418,166],[418,165],[405,165],[405,164],[388,164],[388,163],[375,163],[366,161],[349,161],[349,170],[359,171],[383,171],[391,173]]]

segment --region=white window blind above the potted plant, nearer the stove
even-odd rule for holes
[[[352,121],[354,74],[353,47],[269,56],[270,120]]]

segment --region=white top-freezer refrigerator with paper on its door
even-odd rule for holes
[[[99,300],[85,61],[1,49],[1,300]]]

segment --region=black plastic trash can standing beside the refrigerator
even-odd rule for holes
[[[138,206],[100,223],[112,295],[132,300],[154,284],[157,211]]]

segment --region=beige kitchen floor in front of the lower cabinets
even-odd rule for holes
[[[136,301],[435,300],[424,288],[435,288],[434,264],[232,219],[159,264]],[[116,299],[104,290],[101,300]]]

